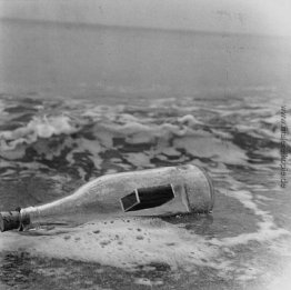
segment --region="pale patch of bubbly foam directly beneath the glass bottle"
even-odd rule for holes
[[[96,261],[121,268],[124,267],[123,263],[127,268],[134,268],[137,263],[148,264],[159,261],[175,269],[183,267],[184,263],[200,264],[201,259],[208,259],[213,254],[213,249],[207,247],[203,238],[163,221],[140,219],[129,219],[129,221],[130,227],[138,234],[128,229],[128,222],[114,220],[114,223],[86,224],[82,228],[72,229],[69,233],[57,234],[53,239],[47,236],[22,236],[18,244],[11,242],[16,238],[11,233],[4,237],[10,242],[1,248],[12,250],[12,248],[21,247],[31,251],[32,254]],[[97,231],[99,231],[98,234],[84,234]],[[149,238],[146,239],[146,237]],[[167,246],[169,241],[172,242],[171,247]],[[157,249],[159,249],[158,252]],[[190,252],[192,252],[191,258],[189,258]]]

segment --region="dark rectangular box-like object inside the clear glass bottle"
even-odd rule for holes
[[[120,199],[124,212],[155,208],[174,198],[172,184],[139,188]]]

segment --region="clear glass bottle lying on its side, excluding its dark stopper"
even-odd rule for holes
[[[157,197],[159,202],[154,204]],[[138,206],[138,210],[134,210],[130,204],[127,211],[126,201],[132,204],[143,202],[143,207]],[[21,209],[20,219],[24,228],[49,223],[73,224],[102,216],[210,212],[213,202],[213,187],[209,177],[200,168],[189,164],[102,176],[68,197]]]

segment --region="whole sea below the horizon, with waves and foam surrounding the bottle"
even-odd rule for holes
[[[0,210],[164,166],[215,187],[209,216],[1,233],[1,289],[289,289],[289,39],[6,20],[0,43]]]

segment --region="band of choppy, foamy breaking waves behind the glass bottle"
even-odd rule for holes
[[[33,164],[47,172],[57,163],[63,173],[70,168],[89,179],[185,162],[253,167],[280,159],[280,108],[248,99],[96,106],[88,100],[3,98],[0,107],[4,178]]]

